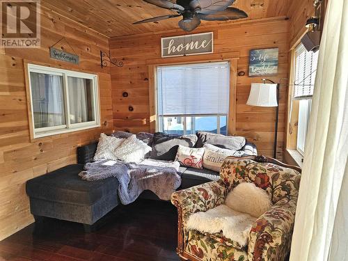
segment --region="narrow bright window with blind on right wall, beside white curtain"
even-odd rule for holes
[[[300,44],[295,50],[294,100],[299,100],[296,149],[303,155],[317,72],[318,52],[307,52]]]

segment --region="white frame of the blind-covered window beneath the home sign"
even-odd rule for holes
[[[159,67],[176,67],[176,66],[190,66],[190,65],[195,65],[195,64],[205,64],[207,62],[197,62],[197,63],[187,63],[187,64],[175,64],[175,65],[159,65]],[[214,62],[211,62],[214,63]],[[219,63],[216,62],[216,63]],[[230,61],[228,61],[228,66],[229,68],[231,68],[231,63]],[[157,72],[157,68],[156,68],[156,72]],[[155,74],[157,76],[157,73]],[[229,77],[231,77],[229,75]],[[231,86],[228,86],[229,88],[229,95],[230,95],[230,88]],[[183,134],[187,135],[187,118],[191,118],[191,117],[217,117],[216,120],[216,129],[217,129],[217,134],[221,134],[221,129],[220,129],[220,117],[226,117],[226,136],[228,136],[228,123],[229,123],[229,115],[230,115],[230,109],[228,110],[227,114],[180,114],[180,115],[159,115],[158,113],[158,99],[157,99],[157,93],[158,93],[158,84],[157,84],[157,77],[156,77],[156,81],[155,81],[155,106],[156,106],[156,125],[155,125],[155,131],[159,132],[161,131],[161,127],[159,126],[161,124],[161,120],[159,120],[159,118],[184,118],[182,124],[184,125],[183,128]],[[229,100],[230,102],[230,100]],[[228,104],[228,107],[230,107],[230,104]],[[164,132],[164,129],[163,129]],[[197,131],[199,132],[199,130]]]

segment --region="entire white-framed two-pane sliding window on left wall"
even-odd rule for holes
[[[99,126],[97,76],[28,65],[34,138]]]

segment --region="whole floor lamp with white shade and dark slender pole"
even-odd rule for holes
[[[262,79],[262,84],[251,84],[251,91],[246,104],[251,106],[276,107],[276,126],[274,129],[274,150],[273,157],[277,156],[277,139],[278,139],[278,115],[279,115],[279,88],[280,84],[276,84],[269,79]],[[271,84],[266,84],[269,81]]]

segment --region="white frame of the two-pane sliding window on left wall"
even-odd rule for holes
[[[29,83],[29,93],[30,93],[30,104],[31,104],[31,122],[33,128],[33,138],[42,138],[45,136],[52,136],[56,134],[63,134],[68,132],[77,132],[83,129],[92,129],[95,127],[100,127],[100,102],[99,102],[99,84],[98,77],[96,74],[88,74],[85,72],[76,72],[71,70],[63,70],[58,68],[52,68],[42,65],[35,65],[28,63],[28,83]],[[37,72],[42,74],[59,75],[63,77],[63,97],[64,97],[64,113],[65,113],[65,125],[53,126],[53,127],[43,127],[35,129],[34,114],[33,114],[33,95],[31,86],[31,72]],[[93,84],[93,113],[95,120],[90,122],[81,123],[70,123],[70,108],[69,108],[69,86],[68,77],[77,77],[83,79],[92,80]]]

